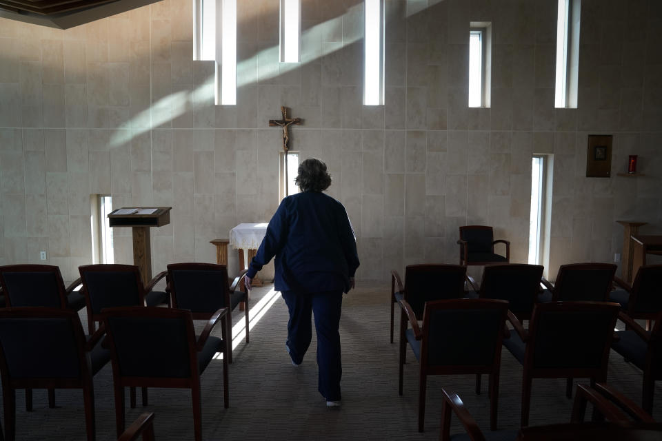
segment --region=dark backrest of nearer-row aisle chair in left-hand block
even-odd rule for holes
[[[190,311],[123,307],[104,309],[103,316],[115,376],[198,378]]]

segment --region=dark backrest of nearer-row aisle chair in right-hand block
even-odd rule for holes
[[[429,374],[499,369],[507,313],[504,300],[428,302],[423,314],[421,365]]]

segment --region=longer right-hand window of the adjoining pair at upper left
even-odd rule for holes
[[[221,0],[221,104],[237,104],[237,0]],[[218,75],[217,75],[218,79]]]

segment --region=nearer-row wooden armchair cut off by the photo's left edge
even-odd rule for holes
[[[99,340],[86,340],[76,311],[62,308],[0,309],[0,375],[6,439],[16,435],[16,389],[83,389],[88,441],[94,441],[92,377],[110,359]]]

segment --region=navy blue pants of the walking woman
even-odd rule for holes
[[[297,293],[283,291],[290,311],[288,341],[290,356],[297,364],[303,360],[310,346],[312,329],[310,314],[314,314],[317,331],[317,389],[328,401],[340,400],[340,378],[343,367],[340,360],[340,312],[342,291]]]

